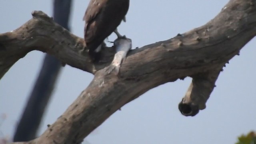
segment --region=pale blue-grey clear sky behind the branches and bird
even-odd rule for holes
[[[83,37],[84,12],[89,0],[74,0],[70,28]],[[167,40],[202,26],[228,0],[130,0],[127,22],[118,27],[132,39],[133,48]],[[33,10],[52,16],[52,0],[0,0],[0,33],[28,21]],[[113,41],[115,35],[109,40]],[[178,103],[191,78],[169,82],[149,90],[115,112],[86,137],[90,144],[232,144],[237,136],[256,130],[256,40],[252,39],[226,65],[216,82],[206,109],[194,117],[180,114]],[[32,51],[0,80],[0,137],[13,136],[26,100],[40,70],[44,53]],[[84,90],[93,75],[65,66],[38,134],[52,124]]]

